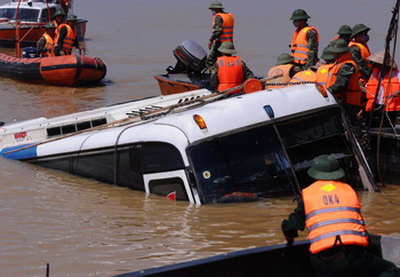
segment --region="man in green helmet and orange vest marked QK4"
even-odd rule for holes
[[[288,244],[307,227],[317,276],[398,276],[393,263],[367,251],[361,203],[353,188],[340,181],[345,174],[338,161],[318,156],[307,173],[316,181],[302,190],[297,208],[282,222]]]

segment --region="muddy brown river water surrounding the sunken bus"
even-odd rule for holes
[[[53,117],[158,95],[153,75],[174,65],[172,50],[192,39],[206,47],[212,1],[75,0],[89,20],[89,55],[108,64],[94,88],[58,88],[0,79],[0,120]],[[304,8],[324,47],[341,24],[372,28],[384,47],[394,0],[223,1],[236,16],[235,45],[256,75],[287,52],[292,10]],[[290,197],[194,206],[29,164],[0,159],[0,276],[112,276],[254,246],[282,243]],[[371,232],[399,234],[400,186],[361,193]],[[304,233],[302,234],[304,238]]]

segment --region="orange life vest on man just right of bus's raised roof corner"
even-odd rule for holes
[[[350,77],[350,82],[347,86],[346,91],[342,92],[340,95],[334,95],[336,98],[344,100],[346,103],[351,105],[361,106],[362,104],[362,92],[360,88],[358,69],[356,63],[353,61],[350,52],[343,54],[329,70],[329,77],[327,81],[327,88],[331,87],[336,82],[336,74],[339,72],[342,65],[350,63],[355,68],[355,74]]]

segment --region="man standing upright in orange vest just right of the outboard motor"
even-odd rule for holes
[[[206,66],[210,68],[214,65],[219,55],[218,48],[221,43],[225,41],[233,42],[233,28],[235,25],[235,18],[233,14],[224,12],[224,7],[219,1],[213,2],[209,9],[213,14],[213,31],[208,42],[208,54]]]

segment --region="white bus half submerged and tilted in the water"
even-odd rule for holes
[[[346,181],[378,190],[342,113],[314,85],[202,89],[5,124],[0,155],[206,204],[298,194],[313,158],[332,154]]]

